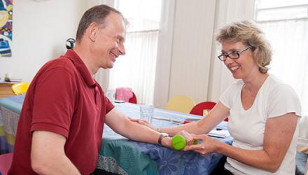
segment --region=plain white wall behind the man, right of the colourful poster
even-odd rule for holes
[[[30,81],[50,59],[64,54],[67,38],[75,38],[84,11],[97,0],[13,1],[12,57],[0,57],[4,73]]]

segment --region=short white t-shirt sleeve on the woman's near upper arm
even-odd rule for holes
[[[277,85],[269,94],[268,117],[274,118],[286,113],[301,116],[300,99],[292,87],[286,84]]]

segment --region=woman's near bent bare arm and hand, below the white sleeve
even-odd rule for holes
[[[265,124],[264,147],[260,151],[250,151],[230,146],[205,135],[193,137],[193,139],[202,139],[202,144],[187,146],[185,150],[193,150],[201,154],[218,152],[246,165],[265,169],[269,172],[276,172],[293,139],[297,118],[295,113],[268,118]]]

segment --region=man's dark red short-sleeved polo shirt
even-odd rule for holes
[[[73,50],[46,63],[27,91],[9,174],[35,174],[30,161],[34,131],[66,137],[66,156],[81,174],[92,173],[102,143],[104,119],[113,107]]]

